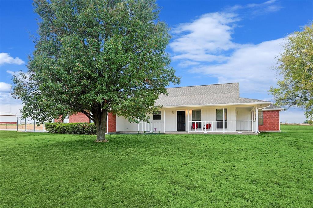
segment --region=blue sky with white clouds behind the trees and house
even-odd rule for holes
[[[313,20],[313,1],[157,1],[160,20],[171,27],[167,52],[180,86],[240,83],[240,96],[270,100],[279,78],[272,67],[284,38]],[[26,71],[34,50],[38,16],[32,1],[0,1],[0,111],[17,113],[10,96],[12,73]],[[172,86],[171,86],[172,87]],[[280,113],[303,122],[300,109]]]

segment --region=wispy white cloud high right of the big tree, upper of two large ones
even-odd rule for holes
[[[198,19],[173,28],[176,37],[169,46],[175,53],[173,60],[224,61],[220,52],[240,47],[231,41],[235,22],[233,13],[207,13]]]

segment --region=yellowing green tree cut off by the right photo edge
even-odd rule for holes
[[[313,24],[290,35],[278,59],[282,80],[271,87],[277,105],[300,107],[313,118]]]

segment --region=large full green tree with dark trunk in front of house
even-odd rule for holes
[[[13,78],[24,117],[38,121],[82,112],[107,141],[106,116],[130,122],[147,113],[165,87],[179,83],[165,52],[169,28],[154,0],[35,0],[40,21],[28,72]]]

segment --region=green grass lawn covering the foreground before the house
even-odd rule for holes
[[[260,135],[0,131],[1,207],[312,207],[313,126]]]

